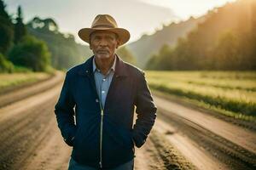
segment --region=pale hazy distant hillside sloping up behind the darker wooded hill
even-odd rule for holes
[[[194,29],[204,17],[193,18],[181,21],[179,23],[171,23],[169,26],[163,26],[160,31],[156,31],[153,35],[143,35],[136,42],[126,45],[137,59],[137,66],[144,68],[148,59],[152,54],[156,54],[164,44],[174,45],[179,37],[185,37],[186,34]]]

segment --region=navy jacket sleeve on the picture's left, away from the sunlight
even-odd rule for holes
[[[74,123],[73,107],[75,102],[71,93],[70,76],[67,72],[62,89],[61,95],[55,105],[55,116],[58,122],[58,127],[61,130],[61,135],[64,141],[72,146],[73,137],[76,133],[76,126]]]

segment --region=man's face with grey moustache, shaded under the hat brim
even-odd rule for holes
[[[110,31],[94,31],[90,35],[90,49],[99,59],[112,58],[119,47],[117,36]]]

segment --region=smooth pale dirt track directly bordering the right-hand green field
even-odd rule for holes
[[[154,96],[154,99],[160,109],[174,113],[190,122],[195,122],[197,126],[208,129],[212,133],[256,154],[256,134],[252,131],[224,122],[201,111],[195,111],[183,105],[170,102],[167,99],[161,99],[156,96]]]

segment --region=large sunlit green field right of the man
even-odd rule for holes
[[[146,71],[152,90],[194,101],[227,116],[256,120],[255,71]]]

